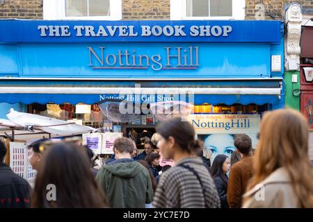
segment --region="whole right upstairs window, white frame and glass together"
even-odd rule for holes
[[[170,19],[244,19],[245,0],[171,0]]]

